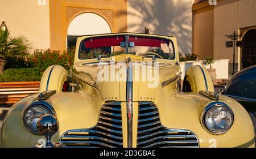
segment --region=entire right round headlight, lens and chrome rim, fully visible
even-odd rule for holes
[[[201,114],[204,128],[211,134],[221,135],[232,127],[233,111],[223,102],[211,102]]]

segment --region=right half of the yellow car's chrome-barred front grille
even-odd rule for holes
[[[139,102],[138,115],[137,147],[199,147],[193,132],[162,126],[154,103]]]

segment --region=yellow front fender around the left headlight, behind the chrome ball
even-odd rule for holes
[[[34,135],[27,130],[23,122],[23,110],[38,94],[23,98],[14,104],[6,114],[1,131],[1,147],[32,147],[44,136]],[[59,141],[65,131],[77,128],[90,128],[96,125],[102,101],[96,89],[90,94],[79,92],[57,92],[46,102],[55,109],[59,120],[59,130],[52,136],[52,141]]]

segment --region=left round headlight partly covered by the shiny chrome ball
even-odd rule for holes
[[[23,121],[27,129],[33,134],[40,135],[36,128],[36,123],[40,117],[46,114],[53,115],[52,110],[49,109],[49,105],[46,102],[34,102],[28,106],[23,114]]]

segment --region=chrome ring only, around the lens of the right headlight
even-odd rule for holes
[[[205,115],[208,113],[208,111],[210,109],[217,108],[217,107],[222,107],[222,108],[227,109],[232,118],[232,122],[230,123],[229,127],[225,131],[222,131],[222,132],[214,132],[214,131],[210,130],[210,128],[207,126],[207,123],[205,122]],[[232,127],[232,125],[234,123],[234,113],[233,113],[232,109],[230,108],[230,106],[225,104],[224,102],[213,101],[213,102],[210,102],[207,106],[205,106],[204,109],[201,111],[200,121],[201,121],[201,125],[203,126],[203,128],[210,134],[222,135],[222,134],[225,134]]]

